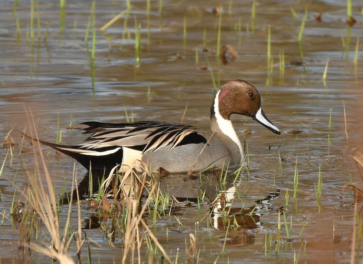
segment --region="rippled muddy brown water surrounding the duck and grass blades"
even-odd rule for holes
[[[354,68],[356,41],[363,32],[361,1],[352,1],[352,16],[357,23],[351,28],[345,22],[344,1],[258,1],[254,33],[252,1],[150,1],[150,11],[146,1],[131,1],[131,5],[126,23],[124,15],[102,35],[98,29],[127,7],[124,1],[96,3],[93,88],[84,42],[90,1],[66,1],[62,33],[59,1],[38,1],[40,41],[35,17],[33,45],[30,2],[19,1],[13,17],[12,1],[0,3],[0,137],[4,139],[13,129],[11,136],[16,143],[12,161],[9,156],[5,158],[4,149],[0,151],[0,162],[5,161],[0,175],[0,212],[4,215],[1,263],[50,261],[39,254],[30,256],[29,251],[19,247],[19,231],[9,220],[14,192],[16,197],[19,195],[16,186],[20,190],[29,183],[25,168],[34,167],[32,151],[21,153],[19,158],[19,131],[24,131],[28,123],[26,109],[32,111],[39,137],[50,142],[56,140],[58,119],[62,143],[78,143],[83,135],[65,130],[71,122],[124,122],[125,109],[134,120],[180,122],[188,104],[184,123],[208,129],[209,108],[215,93],[210,69],[218,87],[235,78],[252,82],[261,93],[267,117],[282,132],[276,136],[250,118],[244,122],[242,117],[233,117],[237,134],[242,142],[246,141],[249,170],[235,184],[234,176],[229,177],[225,188],[233,208],[249,208],[257,200],[271,198],[268,196],[278,190],[279,195],[269,200],[265,208],[287,208],[289,239],[280,215],[282,238],[275,252],[276,211],[255,215],[253,221],[239,215],[241,222],[247,224],[239,224],[240,228],[228,233],[223,251],[226,230],[218,228],[218,214],[210,214],[211,201],[206,201],[200,209],[192,202],[181,203],[171,216],[158,220],[152,227],[158,241],[173,260],[178,254],[179,262],[186,259],[185,241],[189,246],[189,233],[193,233],[197,238],[199,263],[293,263],[294,260],[350,263],[354,212],[349,205],[353,197],[346,191],[343,199],[339,199],[339,192],[350,183],[350,176],[353,183],[362,183],[345,136],[343,110],[344,102],[351,146],[362,148],[362,40],[358,45],[358,66]],[[235,61],[226,65],[216,56],[220,16],[213,13],[215,7],[221,7],[222,12],[220,45],[231,45],[238,54]],[[305,10],[301,52],[297,39]],[[315,20],[318,12],[322,12],[322,22]],[[135,62],[135,23],[140,25],[139,65]],[[266,87],[269,27],[274,68]],[[91,36],[87,42],[89,48]],[[347,36],[350,36],[348,53],[344,52],[342,41],[343,38],[347,43]],[[282,51],[286,66],[281,79],[278,65]],[[231,60],[230,53],[227,59]],[[322,77],[327,61],[324,85]],[[253,133],[244,135],[245,129]],[[302,133],[290,134],[290,130],[302,130]],[[60,193],[65,182],[72,181],[73,160],[65,155],[56,158],[53,150],[44,150],[56,191]],[[284,157],[281,169],[279,153]],[[86,171],[77,166],[79,182]],[[295,167],[299,185],[294,204]],[[319,167],[323,182],[320,204],[315,198]],[[67,208],[61,207],[61,224],[66,212]],[[93,213],[83,208],[82,220],[89,219]],[[77,226],[77,214],[72,217],[72,225]],[[93,262],[117,263],[122,259],[121,240],[116,240],[111,247],[101,228],[85,232],[99,243],[91,245]],[[268,240],[266,256],[265,237]],[[70,248],[72,256],[75,251],[75,247]],[[353,254],[361,259],[362,254],[357,251],[358,244]],[[163,263],[161,253],[154,256],[146,246],[141,253],[142,263]]]

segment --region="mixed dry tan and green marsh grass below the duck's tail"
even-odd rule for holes
[[[37,137],[32,114],[28,115],[30,134]],[[10,137],[7,137],[10,140]],[[7,142],[8,142],[7,141]],[[9,143],[8,143],[9,144]],[[13,196],[10,209],[12,223],[19,229],[19,247],[41,253],[57,260],[59,263],[82,263],[83,247],[87,245],[87,257],[91,261],[91,244],[101,247],[95,241],[86,238],[82,227],[82,203],[77,184],[76,167],[73,170],[72,191],[66,199],[58,199],[54,188],[53,177],[46,167],[44,153],[40,143],[34,142],[34,172],[25,168],[30,185],[24,190],[17,190]],[[151,200],[159,197],[154,204],[169,206],[168,196],[161,197],[161,192],[156,192],[156,184],[150,179],[146,170],[139,175],[134,168],[130,168],[123,175],[115,174],[117,166],[110,174],[103,175],[99,182],[97,194],[89,190],[88,208],[94,210],[100,229],[105,234],[105,242],[112,245],[121,234],[121,241],[125,251],[122,263],[134,262],[140,259],[140,250],[144,241],[149,245],[155,244],[158,251],[169,263],[170,257],[156,239],[154,232],[148,227],[144,213],[150,208]],[[92,179],[90,174],[90,179]],[[152,184],[152,186],[151,186]],[[93,186],[90,180],[90,186]],[[20,196],[17,197],[17,194]],[[147,196],[147,199],[144,199]],[[111,198],[110,198],[111,197]],[[21,202],[25,200],[25,202]],[[64,201],[61,202],[61,201]],[[61,209],[63,207],[63,209]],[[68,207],[66,219],[60,217],[60,212]],[[155,210],[155,208],[154,208]],[[157,211],[157,210],[155,210]],[[74,215],[76,214],[76,215]],[[4,216],[4,215],[3,215]],[[71,226],[71,218],[77,217],[77,225]],[[160,217],[160,215],[156,215]],[[9,219],[10,220],[10,219]],[[110,224],[106,224],[109,222]],[[49,239],[50,238],[50,239]],[[90,244],[91,243],[91,244]],[[75,252],[74,252],[75,251]],[[75,257],[72,257],[75,256]]]

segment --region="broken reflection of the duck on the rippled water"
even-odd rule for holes
[[[78,186],[79,193],[83,195],[85,191],[89,190],[88,184],[90,180],[87,175]],[[96,183],[93,186],[93,190],[98,190],[97,183],[100,182],[102,175],[97,176],[95,173],[92,175],[94,179],[91,182]],[[230,201],[235,198],[236,194],[236,186],[232,183],[233,179],[234,177],[228,176],[223,184],[223,188],[220,180],[211,173],[191,175],[189,177],[180,174],[168,175],[156,178],[155,180],[159,190],[164,195],[170,195],[173,198],[172,206],[174,208],[170,212],[176,214],[181,209],[178,208],[178,202],[189,201],[197,203],[198,199],[204,197],[204,202],[211,204],[210,210],[213,227],[217,230],[228,232],[227,236],[223,235],[220,237],[221,243],[226,243],[226,245],[231,247],[244,247],[254,243],[255,235],[253,232],[248,232],[248,230],[258,228],[261,224],[261,214],[267,212],[266,210],[262,211],[262,206],[260,205],[264,204],[264,207],[266,207],[266,204],[270,205],[269,201],[278,197],[279,192],[270,193],[266,198],[256,201],[257,205],[250,208],[238,206],[230,208]],[[144,194],[148,195],[146,192]],[[217,198],[219,198],[218,201],[214,203]],[[182,204],[183,210],[185,210],[185,203]],[[98,228],[99,221],[97,215],[90,215],[90,219],[86,220],[84,228]]]

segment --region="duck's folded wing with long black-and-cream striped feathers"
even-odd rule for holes
[[[175,147],[190,143],[207,143],[210,135],[195,126],[171,122],[140,121],[131,123],[82,123],[76,127],[91,134],[79,144],[82,149],[102,149],[106,146],[122,146],[143,153],[171,145]],[[73,127],[74,128],[74,127]]]

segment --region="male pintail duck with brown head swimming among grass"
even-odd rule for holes
[[[89,134],[78,145],[58,145],[39,141],[76,159],[87,169],[110,171],[115,165],[136,164],[142,171],[143,161],[152,172],[201,171],[206,168],[240,165],[243,149],[230,117],[240,114],[267,127],[280,130],[261,109],[261,97],[250,82],[232,80],[217,92],[211,106],[211,132],[196,126],[172,122],[140,121],[131,123],[85,122],[73,129]]]

